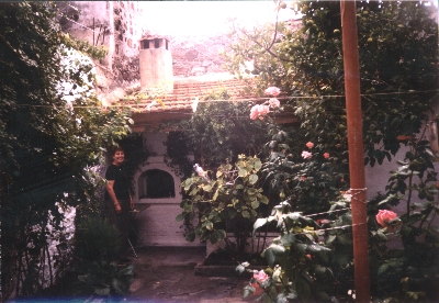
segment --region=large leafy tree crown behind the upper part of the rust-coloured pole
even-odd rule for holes
[[[257,61],[262,87],[278,85],[293,96],[309,139],[326,152],[342,152],[347,143],[345,100],[339,97],[345,90],[340,5],[300,1],[297,10],[303,26],[289,31],[282,25],[281,31],[279,25],[271,40],[262,30],[233,29],[243,38],[228,54],[228,66],[238,72],[245,61]],[[398,135],[419,133],[429,119],[426,112],[438,86],[435,10],[414,1],[357,2],[365,161],[372,166],[396,154]],[[281,75],[273,72],[280,69]]]

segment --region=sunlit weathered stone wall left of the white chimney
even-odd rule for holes
[[[138,2],[70,1],[63,4],[63,10],[67,16],[61,23],[64,31],[108,48],[101,64],[114,72],[116,81],[139,79],[138,42],[145,29],[138,26],[143,18]]]

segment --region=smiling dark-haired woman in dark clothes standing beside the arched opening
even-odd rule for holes
[[[125,252],[130,247],[130,211],[134,209],[134,203],[131,193],[131,181],[124,166],[125,153],[121,147],[116,147],[112,152],[113,162],[105,172],[105,209],[110,223],[120,232],[122,251]],[[121,257],[122,259],[124,257]]]

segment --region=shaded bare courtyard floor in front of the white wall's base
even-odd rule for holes
[[[195,276],[194,268],[205,257],[205,247],[147,247],[137,248],[136,258],[130,258],[136,269],[127,302],[250,302],[243,299],[243,289],[249,279],[233,277]]]

